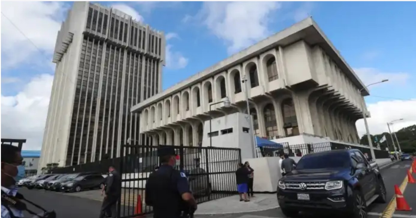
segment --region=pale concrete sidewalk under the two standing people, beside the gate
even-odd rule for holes
[[[277,208],[276,194],[255,194],[250,202],[240,201],[238,195],[198,204],[196,215],[248,213]]]

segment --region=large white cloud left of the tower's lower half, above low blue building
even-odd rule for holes
[[[1,135],[27,139],[23,149],[42,147],[53,76],[35,76],[15,96],[1,96]]]

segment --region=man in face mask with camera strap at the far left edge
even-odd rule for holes
[[[16,196],[15,183],[25,176],[25,165],[20,149],[13,145],[1,145],[1,192],[2,195]],[[4,203],[3,203],[4,202]],[[12,214],[10,214],[12,213]],[[1,218],[23,217],[23,211],[6,201],[1,203]]]

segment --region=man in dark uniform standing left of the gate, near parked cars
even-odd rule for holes
[[[104,218],[107,211],[111,211],[112,218],[117,217],[117,200],[119,200],[121,194],[121,178],[113,166],[110,166],[108,171],[104,201],[101,206],[99,218]]]

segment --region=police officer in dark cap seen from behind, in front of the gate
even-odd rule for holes
[[[153,207],[154,218],[181,218],[196,211],[196,201],[185,173],[174,169],[173,147],[158,149],[161,166],[146,182],[145,202]]]

